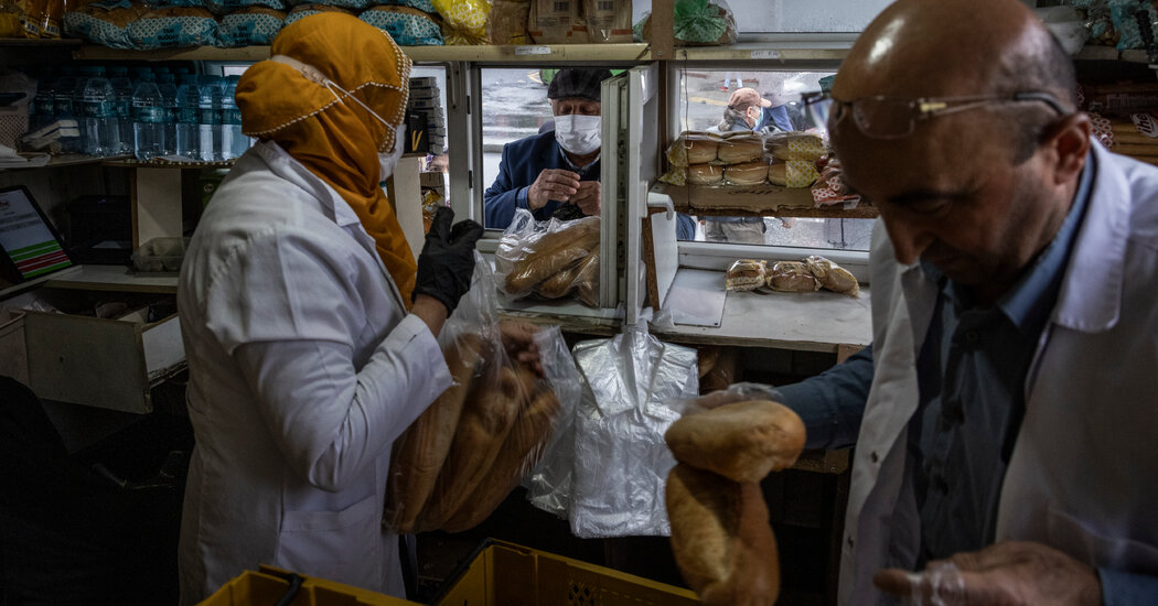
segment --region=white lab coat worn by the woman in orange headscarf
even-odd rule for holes
[[[205,209],[177,300],[197,437],[182,603],[262,563],[402,596],[390,445],[450,376],[353,209],[258,143]]]

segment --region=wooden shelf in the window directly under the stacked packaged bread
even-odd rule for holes
[[[761,185],[753,187],[708,187],[688,185],[680,187],[657,183],[652,193],[672,199],[677,213],[697,216],[796,216],[812,219],[875,219],[877,207],[857,205],[855,208],[816,208],[812,190],[807,187],[780,187]],[[652,212],[664,212],[652,208]]]

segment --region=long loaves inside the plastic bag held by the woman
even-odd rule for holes
[[[485,520],[537,463],[559,411],[491,340],[463,334],[444,354],[454,385],[394,444],[384,520],[400,534]]]

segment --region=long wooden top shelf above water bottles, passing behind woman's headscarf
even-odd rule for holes
[[[481,46],[403,46],[410,59],[419,64],[448,61],[558,62],[558,61],[646,61],[651,60],[646,44],[556,44],[556,45],[481,45]],[[193,46],[132,51],[105,46],[81,46],[73,57],[103,61],[261,61],[270,58],[269,46],[217,49]]]

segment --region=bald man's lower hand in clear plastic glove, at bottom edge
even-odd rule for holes
[[[1004,541],[954,554],[930,562],[922,574],[889,568],[877,572],[873,584],[894,596],[919,597],[916,604],[1101,604],[1097,570],[1040,542]],[[940,601],[933,601],[935,597]]]

